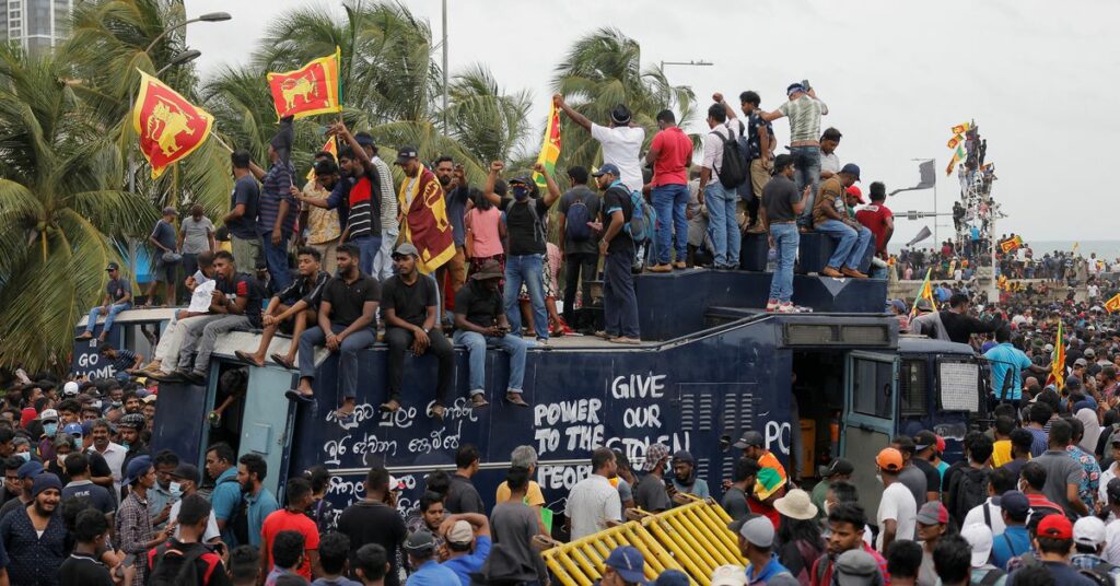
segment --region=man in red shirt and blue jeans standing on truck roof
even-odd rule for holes
[[[657,113],[657,128],[645,161],[653,165],[653,208],[657,212],[655,232],[656,263],[652,272],[671,272],[684,268],[689,244],[689,221],[684,206],[689,203],[689,167],[692,165],[692,140],[676,125],[672,110]],[[675,262],[670,264],[673,235],[676,235]]]

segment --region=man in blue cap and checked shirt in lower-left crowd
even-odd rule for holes
[[[139,558],[171,534],[170,529],[157,532],[148,513],[148,491],[156,485],[156,467],[151,458],[140,456],[130,462],[122,484],[129,486],[129,495],[116,511],[118,541],[124,554]],[[142,586],[147,575],[146,565],[137,564],[137,577],[132,584]]]

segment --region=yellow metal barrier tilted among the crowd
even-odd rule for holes
[[[681,495],[678,496],[680,499]],[[731,519],[715,501],[689,504],[652,514],[628,511],[636,520],[599,531],[570,543],[557,543],[541,555],[563,586],[591,586],[603,577],[604,561],[619,546],[634,546],[645,556],[645,577],[679,569],[693,585],[708,586],[718,566],[746,566],[738,540],[727,523]]]

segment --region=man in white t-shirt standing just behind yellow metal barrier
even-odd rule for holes
[[[591,475],[572,486],[564,505],[571,541],[622,521],[623,504],[618,490],[610,485],[610,478],[617,475],[617,471],[614,450],[600,447],[591,453]]]

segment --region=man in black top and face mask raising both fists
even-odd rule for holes
[[[544,166],[536,164],[533,170],[541,174],[548,185],[548,193],[542,197],[532,197],[536,189],[530,177],[510,179],[510,193],[513,199],[502,201],[494,194],[494,184],[505,164],[496,160],[491,162],[491,174],[486,179],[483,195],[505,213],[505,226],[508,234],[505,260],[505,316],[510,320],[510,332],[521,335],[521,286],[525,285],[529,300],[533,305],[533,329],[536,341],[545,344],[549,341],[549,313],[544,307],[544,253],[548,231],[544,221],[549,207],[560,199],[560,187],[552,179]]]

